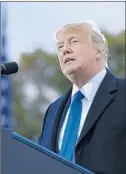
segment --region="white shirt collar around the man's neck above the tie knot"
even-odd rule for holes
[[[104,68],[99,73],[97,73],[94,77],[92,77],[88,81],[88,83],[86,83],[80,89],[75,84],[73,84],[72,98],[73,98],[73,95],[80,90],[82,94],[85,96],[85,98],[88,101],[92,102],[105,75],[106,75],[106,69]]]

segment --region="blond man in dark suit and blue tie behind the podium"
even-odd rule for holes
[[[106,68],[104,35],[85,21],[59,29],[56,40],[73,85],[47,109],[39,144],[93,172],[126,174],[126,83]]]

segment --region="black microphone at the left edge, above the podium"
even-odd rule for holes
[[[18,65],[16,62],[6,62],[1,64],[1,74],[9,75],[18,72]]]

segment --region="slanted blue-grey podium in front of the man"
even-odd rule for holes
[[[2,174],[93,174],[9,129],[1,138]]]

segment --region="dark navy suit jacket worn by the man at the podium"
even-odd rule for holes
[[[59,132],[71,101],[72,88],[45,114],[39,144],[58,153]],[[75,162],[93,172],[126,174],[126,81],[109,70],[86,117]]]

